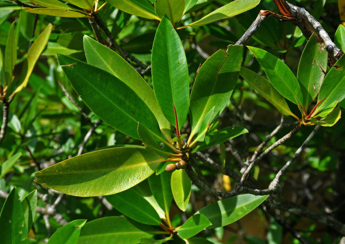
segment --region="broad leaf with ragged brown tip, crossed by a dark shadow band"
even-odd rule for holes
[[[214,106],[211,123],[224,110],[237,81],[242,53],[242,45],[231,45],[228,53],[220,49],[200,67],[190,94],[191,137],[200,131],[206,114]]]

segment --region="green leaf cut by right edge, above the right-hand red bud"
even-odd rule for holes
[[[316,108],[315,112],[321,111],[332,104],[334,101],[341,102],[345,98],[345,57],[344,55],[339,58],[331,70],[327,73],[320,92],[317,102],[322,101]]]

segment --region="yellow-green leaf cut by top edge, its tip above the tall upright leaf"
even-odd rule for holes
[[[157,19],[155,9],[145,0],[107,0],[115,8],[146,19]]]

